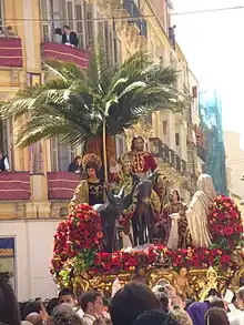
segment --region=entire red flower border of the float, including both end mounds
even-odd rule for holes
[[[102,252],[102,224],[100,215],[88,204],[78,205],[67,221],[59,224],[54,235],[51,273],[59,282],[69,281],[72,272],[91,275],[133,273],[138,267],[181,266],[206,268],[214,266],[218,273],[233,274],[243,263],[241,214],[234,202],[220,196],[210,214],[210,231],[214,245],[211,248],[179,248],[171,251],[163,245],[145,250]]]

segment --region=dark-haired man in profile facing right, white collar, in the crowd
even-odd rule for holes
[[[82,325],[93,325],[103,312],[103,295],[99,292],[87,292],[81,296],[80,306],[84,312]]]

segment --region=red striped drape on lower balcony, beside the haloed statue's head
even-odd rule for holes
[[[80,175],[69,172],[48,173],[49,200],[71,200],[80,182]]]

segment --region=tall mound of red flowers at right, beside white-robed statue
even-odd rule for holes
[[[213,246],[228,253],[233,251],[243,234],[241,212],[234,201],[224,195],[218,196],[209,215],[209,223]]]

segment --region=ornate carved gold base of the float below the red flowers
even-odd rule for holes
[[[119,280],[122,285],[125,283],[138,280],[146,283],[150,287],[159,284],[161,281],[167,282],[177,288],[177,273],[172,268],[152,268],[151,271],[142,274],[119,274]],[[242,266],[231,278],[220,276],[217,272],[210,267],[209,270],[192,268],[187,274],[187,281],[191,288],[191,297],[203,301],[209,291],[214,288],[222,294],[225,294],[227,288],[235,291],[238,287],[241,276],[244,276],[244,266]],[[91,276],[89,273],[75,275],[72,280],[72,287],[75,293],[85,292],[89,290],[98,290],[102,292],[111,292],[115,275],[98,275]]]

